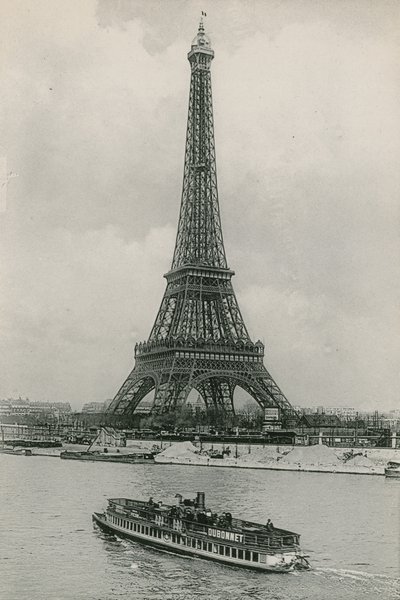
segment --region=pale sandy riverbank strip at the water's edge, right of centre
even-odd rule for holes
[[[158,464],[179,464],[273,471],[308,471],[315,473],[347,473],[352,475],[384,475],[384,466],[400,452],[391,449],[346,449],[316,446],[265,446],[235,448],[235,456],[226,448],[223,458],[213,457],[213,449],[201,451],[191,442],[172,444],[155,457]],[[228,453],[226,453],[228,451]],[[383,452],[382,452],[383,451]],[[211,454],[211,455],[210,455]]]

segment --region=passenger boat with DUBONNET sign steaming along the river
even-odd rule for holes
[[[299,535],[273,525],[213,513],[205,494],[195,500],[176,495],[175,505],[111,498],[92,518],[103,531],[178,554],[191,555],[260,571],[309,569]]]

